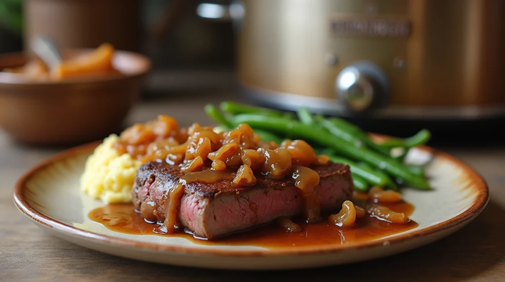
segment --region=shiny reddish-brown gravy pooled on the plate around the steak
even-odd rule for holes
[[[359,201],[355,200],[355,202],[360,205]],[[410,216],[414,211],[414,206],[407,202],[385,204],[384,206],[396,212],[403,212],[407,216]],[[91,220],[102,223],[108,229],[120,233],[180,237],[196,244],[205,245],[252,245],[270,248],[359,243],[405,232],[418,226],[418,223],[412,220],[407,224],[395,224],[371,217],[367,213],[363,218],[356,220],[355,227],[345,228],[329,224],[328,214],[325,214],[325,219],[321,222],[306,223],[302,217],[293,219],[293,222],[302,229],[301,232],[287,232],[274,222],[211,241],[194,238],[188,233],[155,233],[153,230],[157,229],[159,225],[146,222],[142,215],[133,209],[132,204],[109,204],[91,210],[88,216]]]

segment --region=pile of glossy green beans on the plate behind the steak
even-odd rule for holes
[[[281,143],[284,139],[303,139],[318,154],[348,165],[358,191],[366,192],[373,186],[396,190],[399,184],[431,189],[422,166],[403,163],[405,153],[401,156],[391,154],[393,148],[408,152],[410,148],[426,143],[431,136],[426,129],[410,138],[392,138],[378,143],[354,124],[340,118],[315,116],[306,108],[298,109],[296,115],[232,101],[222,102],[219,108],[208,104],[205,111],[225,130],[248,124],[263,141]]]

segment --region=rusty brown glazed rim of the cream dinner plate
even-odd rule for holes
[[[281,256],[281,255],[314,255],[322,253],[336,253],[351,249],[364,249],[364,248],[374,248],[383,246],[387,242],[389,246],[405,242],[414,238],[427,236],[433,233],[441,232],[457,225],[463,224],[468,220],[476,217],[487,205],[489,201],[489,189],[486,181],[469,167],[463,161],[453,157],[445,152],[435,150],[434,148],[428,146],[420,146],[419,148],[423,151],[428,151],[437,157],[447,158],[452,162],[455,162],[461,166],[465,174],[468,175],[472,183],[477,187],[478,195],[475,202],[468,209],[460,213],[459,215],[452,217],[443,222],[437,223],[431,227],[420,229],[407,234],[397,235],[394,237],[389,237],[387,239],[379,239],[369,242],[361,242],[348,245],[330,245],[327,247],[317,247],[317,248],[300,248],[300,249],[275,249],[275,250],[216,250],[216,249],[206,249],[198,247],[182,247],[182,246],[169,246],[169,245],[159,245],[155,243],[145,243],[133,241],[130,239],[123,239],[112,237],[103,234],[97,234],[90,231],[81,230],[75,228],[71,225],[53,219],[51,217],[45,216],[34,207],[32,207],[25,199],[24,190],[26,188],[26,183],[36,175],[40,170],[42,170],[47,165],[50,165],[56,161],[69,158],[71,156],[77,155],[84,151],[91,152],[98,144],[102,141],[96,141],[92,143],[87,143],[77,147],[73,147],[57,153],[30,168],[25,174],[23,174],[19,180],[16,182],[14,187],[14,202],[17,208],[25,214],[31,220],[34,220],[40,224],[46,225],[49,228],[56,228],[62,232],[68,233],[73,236],[80,237],[87,240],[97,240],[103,244],[111,244],[117,247],[127,247],[127,248],[141,248],[150,251],[157,252],[173,252],[173,253],[185,253],[185,254],[195,254],[195,255],[213,255],[213,256]]]

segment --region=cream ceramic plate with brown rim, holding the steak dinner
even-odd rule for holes
[[[414,149],[409,162],[429,161],[432,191],[405,189],[403,198],[416,208],[415,229],[356,244],[324,248],[267,249],[255,246],[210,246],[183,238],[128,235],[110,231],[87,214],[100,201],[81,194],[79,177],[97,143],[63,151],[38,164],[17,183],[18,208],[49,233],[100,252],[173,265],[225,269],[287,269],[351,263],[411,250],[454,233],[477,216],[488,202],[484,180],[458,159],[428,147]]]

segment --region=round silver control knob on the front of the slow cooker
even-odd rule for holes
[[[340,71],[335,88],[346,111],[362,112],[385,102],[387,78],[373,63],[360,62]]]

